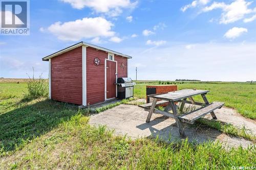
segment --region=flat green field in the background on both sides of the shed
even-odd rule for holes
[[[146,97],[146,85],[158,85],[157,83],[138,83],[134,89],[136,98]],[[0,83],[0,100],[22,97],[27,92],[26,82],[17,84],[16,82]],[[183,83],[177,84],[178,89],[205,89],[209,102],[225,102],[226,107],[236,109],[247,118],[256,119],[256,84],[247,83]],[[201,101],[201,96],[196,96],[195,100]]]

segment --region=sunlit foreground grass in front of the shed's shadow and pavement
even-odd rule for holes
[[[131,140],[114,136],[105,127],[88,125],[75,114],[36,137],[19,151],[0,158],[0,169],[231,169],[255,166],[256,150],[225,149],[218,143],[193,144],[183,140]]]

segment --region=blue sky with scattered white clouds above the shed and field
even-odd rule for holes
[[[42,57],[79,41],[133,56],[139,80],[256,78],[255,1],[30,1],[30,35],[0,35],[0,77],[48,78]]]

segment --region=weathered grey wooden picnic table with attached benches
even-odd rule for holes
[[[209,92],[209,90],[197,90],[197,89],[183,89],[183,90],[177,90],[172,91],[164,94],[155,94],[151,95],[151,98],[153,98],[152,103],[147,103],[140,105],[140,107],[143,107],[145,110],[148,111],[148,115],[146,118],[146,122],[150,122],[151,116],[154,113],[162,114],[168,117],[175,118],[177,127],[179,128],[180,135],[182,137],[185,137],[183,127],[181,122],[188,123],[188,124],[194,124],[195,120],[199,119],[200,117],[203,117],[204,115],[210,113],[212,118],[217,119],[214,110],[220,109],[224,103],[222,102],[212,102],[209,103],[206,94]],[[204,103],[201,102],[195,102],[192,98],[195,95],[200,95],[203,98]],[[187,101],[189,99],[189,101]],[[177,111],[177,105],[175,103],[181,103],[180,105],[180,111],[183,110],[185,104],[192,104],[192,105],[198,105],[201,106],[200,108],[190,111],[188,113],[184,113],[182,115],[178,115]],[[168,104],[164,110],[156,109],[156,106],[162,105],[162,104]],[[173,113],[170,113],[169,111],[172,110]]]

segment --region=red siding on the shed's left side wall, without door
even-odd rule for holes
[[[51,59],[52,99],[82,105],[82,47]]]

